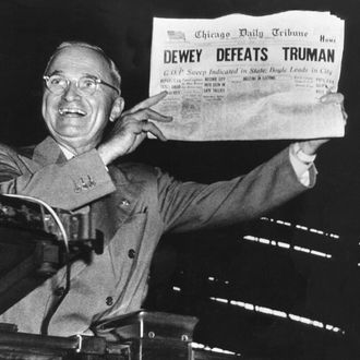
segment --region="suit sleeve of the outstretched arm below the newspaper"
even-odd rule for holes
[[[315,181],[310,169],[310,187]],[[245,176],[212,184],[158,177],[165,231],[225,226],[256,218],[309,189],[300,183],[286,148]]]

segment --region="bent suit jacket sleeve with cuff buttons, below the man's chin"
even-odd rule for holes
[[[115,191],[97,152],[41,166],[0,146],[0,193],[40,199],[52,207],[74,209]]]

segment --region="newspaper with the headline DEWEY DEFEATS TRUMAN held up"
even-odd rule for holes
[[[328,12],[287,11],[215,20],[154,19],[149,94],[172,140],[344,136],[336,92],[344,21]]]

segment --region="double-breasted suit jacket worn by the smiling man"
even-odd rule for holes
[[[141,308],[151,260],[166,231],[228,225],[260,216],[304,191],[288,148],[243,177],[213,184],[179,182],[157,168],[121,164],[108,171],[96,149],[65,160],[48,137],[34,151],[0,147],[0,189],[55,207],[89,205],[106,249],[89,265],[72,265],[71,290],[53,315],[50,335],[86,333],[93,323]],[[314,171],[311,170],[311,183]],[[0,316],[39,333],[64,286],[64,271]]]

